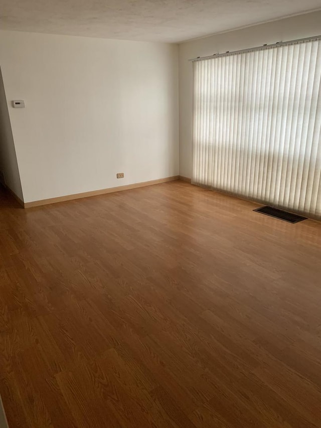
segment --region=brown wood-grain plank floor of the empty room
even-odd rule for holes
[[[10,428],[321,427],[321,224],[183,182],[0,208]]]

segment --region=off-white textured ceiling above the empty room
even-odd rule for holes
[[[0,0],[0,29],[181,42],[321,8],[321,0]]]

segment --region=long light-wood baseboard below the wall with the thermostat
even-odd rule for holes
[[[110,187],[108,189],[93,190],[90,192],[76,193],[74,195],[58,196],[57,198],[41,199],[40,201],[25,202],[24,208],[40,207],[42,205],[56,204],[57,202],[73,201],[74,199],[88,198],[90,196],[105,195],[106,193],[121,192],[123,190],[137,189],[139,187],[152,186],[154,184],[167,183],[179,180],[179,176],[160,178],[158,180],[143,181],[141,183],[127,184],[125,186]]]

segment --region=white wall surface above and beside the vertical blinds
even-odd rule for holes
[[[218,34],[179,46],[180,82],[180,175],[192,174],[192,62],[190,58],[235,51],[278,41],[321,34],[321,12],[314,12]]]

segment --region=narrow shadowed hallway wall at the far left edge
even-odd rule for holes
[[[6,185],[23,200],[19,169],[12,135],[5,88],[0,68],[0,171]],[[0,409],[1,419],[1,409]]]

